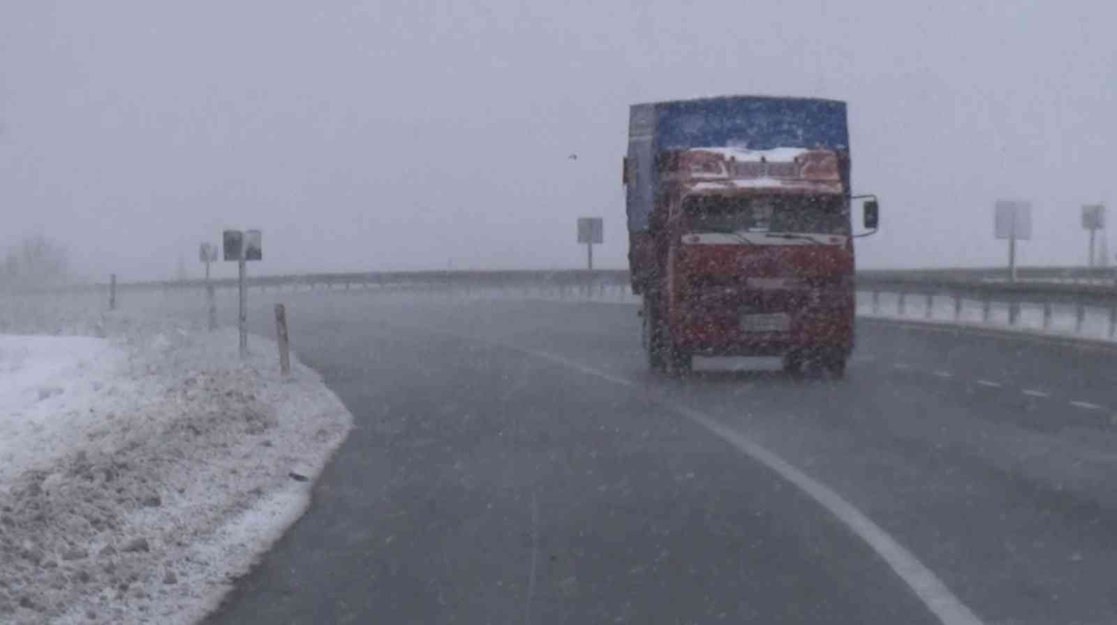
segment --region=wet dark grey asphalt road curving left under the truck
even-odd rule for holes
[[[941,622],[687,414],[828,486],[985,623],[1117,622],[1110,350],[866,321],[844,380],[680,380],[645,370],[632,305],[273,300],[356,427],[210,623]]]

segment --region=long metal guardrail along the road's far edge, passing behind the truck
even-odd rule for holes
[[[1083,333],[1091,339],[1117,337],[1117,283],[1101,278],[1114,269],[1022,267],[1008,282],[1004,269],[867,269],[856,275],[860,314],[935,319],[1039,331]],[[1109,280],[1108,283],[1097,281]],[[1082,281],[1095,281],[1082,283]],[[210,282],[216,290],[237,288],[233,278]],[[351,290],[447,292],[462,295],[617,297],[636,301],[627,269],[359,272],[251,276],[252,290]],[[122,293],[188,294],[204,280],[120,282]],[[109,285],[84,284],[40,288],[39,294],[106,296]]]

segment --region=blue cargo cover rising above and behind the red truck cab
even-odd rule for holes
[[[820,148],[848,155],[846,103],[744,95],[632,105],[626,180],[629,233],[648,229],[659,184],[658,152],[727,146]],[[843,173],[848,181],[848,171]]]

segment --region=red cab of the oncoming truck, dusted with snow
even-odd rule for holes
[[[841,160],[810,149],[660,154],[645,243],[657,267],[642,290],[653,369],[687,370],[694,356],[779,356],[790,370],[843,373],[855,264]]]

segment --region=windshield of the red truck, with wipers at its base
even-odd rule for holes
[[[697,197],[682,205],[694,231],[752,230],[848,235],[849,209],[834,196]]]

